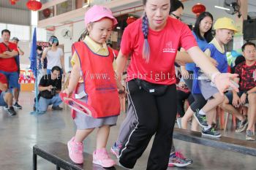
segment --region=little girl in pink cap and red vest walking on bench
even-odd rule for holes
[[[75,163],[83,163],[83,140],[98,128],[93,163],[103,167],[116,164],[105,149],[110,126],[116,125],[120,112],[118,93],[125,92],[124,86],[115,80],[113,52],[105,43],[116,24],[110,9],[94,5],[85,14],[86,38],[72,45],[72,72],[63,93],[73,93],[74,100],[83,101],[95,113],[88,116],[75,112],[77,131],[67,143],[69,158]]]

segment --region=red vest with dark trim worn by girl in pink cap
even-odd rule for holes
[[[113,52],[109,55],[93,53],[84,42],[75,42],[72,51],[78,54],[87,94],[85,106],[92,110],[92,117],[110,117],[120,113],[120,101],[113,71]]]

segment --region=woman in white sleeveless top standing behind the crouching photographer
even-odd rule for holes
[[[47,74],[50,74],[53,66],[59,66],[61,68],[61,75],[65,73],[64,68],[64,53],[61,48],[58,47],[59,39],[56,36],[50,36],[49,39],[50,47],[44,49],[42,53],[41,62],[43,63],[47,58]]]

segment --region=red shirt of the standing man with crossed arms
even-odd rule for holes
[[[15,43],[9,42],[8,47],[10,50],[18,51],[17,45]],[[8,51],[5,47],[4,42],[0,43],[0,54]],[[18,66],[15,58],[0,58],[0,70],[4,72],[17,72]]]

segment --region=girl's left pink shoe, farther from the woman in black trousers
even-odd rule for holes
[[[74,142],[75,137],[67,142],[67,148],[69,149],[69,158],[74,163],[83,163],[83,143]]]

